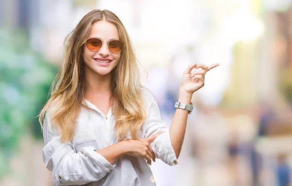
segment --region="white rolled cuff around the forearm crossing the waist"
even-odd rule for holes
[[[88,155],[94,162],[101,166],[106,171],[110,172],[111,169],[115,167],[115,165],[111,165],[110,162],[103,157],[101,154],[94,151],[94,147],[82,147],[80,150],[84,155]]]

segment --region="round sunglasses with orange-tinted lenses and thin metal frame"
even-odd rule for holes
[[[124,44],[122,41],[117,39],[112,39],[110,41],[102,41],[99,38],[89,38],[87,39],[86,47],[90,51],[99,51],[102,47],[102,43],[107,42],[108,43],[108,49],[112,53],[119,53],[123,50]]]

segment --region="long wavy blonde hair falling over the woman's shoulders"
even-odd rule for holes
[[[86,90],[82,50],[92,24],[106,20],[113,23],[125,48],[120,61],[111,71],[111,98],[116,118],[115,133],[120,140],[137,139],[137,133],[146,119],[141,93],[138,64],[128,33],[120,19],[109,10],[93,10],[85,15],[64,41],[64,62],[51,86],[51,97],[39,114],[39,122],[49,113],[53,126],[61,130],[61,141],[72,140]]]

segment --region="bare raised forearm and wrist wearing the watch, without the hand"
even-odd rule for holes
[[[179,91],[178,101],[190,104],[192,95]],[[178,158],[182,149],[189,111],[177,108],[169,128],[169,135],[175,155]]]

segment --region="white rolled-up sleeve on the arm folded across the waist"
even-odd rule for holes
[[[49,117],[43,123],[43,161],[47,169],[53,171],[57,185],[84,185],[102,179],[114,168],[93,147],[83,147],[76,153],[71,142],[61,143]]]

